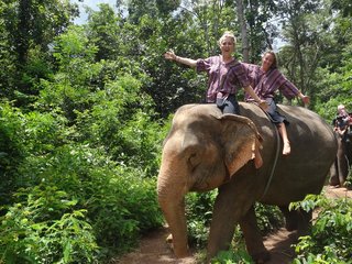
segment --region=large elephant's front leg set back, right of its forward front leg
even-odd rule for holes
[[[264,263],[271,258],[268,251],[263,243],[261,230],[256,223],[254,207],[240,220],[240,227],[244,234],[245,245],[249,254],[255,263]]]

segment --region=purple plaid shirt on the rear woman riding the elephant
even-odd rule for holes
[[[277,89],[287,98],[295,98],[299,90],[278,69],[264,73],[258,65],[243,64],[255,94],[262,99],[274,98]],[[245,95],[245,100],[254,100]]]

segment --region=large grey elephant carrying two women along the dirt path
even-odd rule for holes
[[[276,205],[288,230],[304,232],[311,213],[289,211],[292,201],[320,194],[337,154],[337,139],[317,113],[278,105],[287,117],[292,153],[282,155],[275,124],[256,105],[240,101],[241,116],[213,103],[177,109],[164,140],[157,176],[157,199],[169,227],[174,254],[189,256],[185,196],[218,188],[207,245],[207,261],[228,250],[240,224],[246,250],[255,262],[270,260],[256,224],[254,204]],[[261,144],[263,166],[255,168],[254,145]]]

